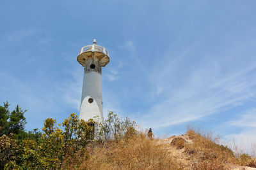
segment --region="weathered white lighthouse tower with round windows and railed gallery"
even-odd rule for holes
[[[99,123],[103,120],[101,67],[109,62],[108,51],[103,46],[96,45],[96,39],[93,39],[92,45],[81,48],[77,61],[84,67],[79,119],[88,121],[93,118]]]

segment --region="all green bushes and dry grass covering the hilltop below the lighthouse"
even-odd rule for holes
[[[26,118],[19,106],[0,106],[0,169],[230,169],[256,167],[249,155],[236,157],[212,134],[191,127],[185,135],[148,138],[136,123],[113,112],[93,127],[72,113],[61,124],[47,118],[42,132],[24,131]],[[93,120],[88,120],[93,123]]]

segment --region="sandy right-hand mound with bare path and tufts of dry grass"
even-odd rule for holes
[[[202,136],[197,137],[193,139],[195,136],[187,133],[159,139],[157,142],[179,162],[182,169],[256,169],[253,168],[256,167],[255,159],[237,159],[229,148],[216,145]]]

